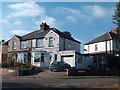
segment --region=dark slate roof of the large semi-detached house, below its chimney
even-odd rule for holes
[[[56,28],[49,28],[48,30],[36,30],[31,33],[28,33],[26,35],[23,35],[22,37],[19,37],[20,40],[30,40],[30,39],[37,39],[37,38],[44,38],[45,35],[50,31],[53,30],[55,33],[57,33],[60,37],[66,38],[72,41],[75,41],[77,43],[80,43],[79,41],[73,39],[72,37],[65,36],[63,32],[57,30]]]

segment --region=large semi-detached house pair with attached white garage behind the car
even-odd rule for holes
[[[54,60],[64,60],[76,67],[77,53],[80,53],[79,41],[69,32],[50,28],[46,23],[40,25],[40,30],[14,35],[8,42],[8,60],[30,62],[41,68],[48,68]]]

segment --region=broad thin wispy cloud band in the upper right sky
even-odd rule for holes
[[[57,7],[55,12],[64,15],[66,20],[77,21],[78,19],[91,22],[94,19],[106,18],[114,13],[113,7],[102,7],[100,5],[82,5],[79,9]]]

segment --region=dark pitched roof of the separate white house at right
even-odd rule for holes
[[[86,43],[87,44],[92,44],[92,43],[97,43],[97,42],[102,42],[102,41],[106,41],[106,40],[113,40],[117,38],[117,34],[112,33],[112,32],[107,32],[93,40],[91,40],[90,42]]]

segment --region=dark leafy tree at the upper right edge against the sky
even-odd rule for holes
[[[113,15],[113,23],[116,24],[118,30],[118,41],[120,42],[120,1],[115,5],[115,14]]]

